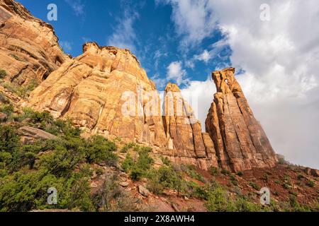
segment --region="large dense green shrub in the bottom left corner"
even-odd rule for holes
[[[57,189],[57,205],[47,203],[47,189]],[[45,208],[91,209],[89,183],[82,172],[56,177],[43,170],[16,172],[0,179],[0,210],[29,211]]]

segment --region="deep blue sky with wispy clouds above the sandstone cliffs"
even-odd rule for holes
[[[198,59],[211,44],[223,39],[213,29],[196,44],[183,46],[184,34],[172,20],[172,5],[159,1],[19,0],[34,16],[51,23],[67,54],[82,54],[82,44],[128,47],[147,75],[162,90],[168,81],[184,88],[189,81],[206,81],[211,71],[230,66],[230,48],[223,47],[214,59]],[[47,20],[47,5],[57,5],[57,21]],[[197,42],[197,41],[196,41]],[[194,56],[196,59],[194,59]],[[172,65],[171,65],[172,64]],[[169,67],[171,65],[171,67]],[[170,69],[170,70],[169,70]]]

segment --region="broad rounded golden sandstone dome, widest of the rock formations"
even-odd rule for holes
[[[136,57],[94,42],[83,50],[30,94],[29,105],[91,134],[166,146],[159,95]]]

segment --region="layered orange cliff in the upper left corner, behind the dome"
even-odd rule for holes
[[[40,83],[67,59],[51,25],[16,1],[0,0],[0,69],[7,80]]]

